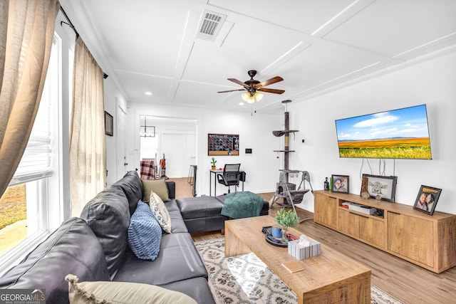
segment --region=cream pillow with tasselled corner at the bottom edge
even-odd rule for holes
[[[124,303],[124,304],[197,304],[197,302],[174,290],[155,285],[129,282],[81,282],[78,277],[69,274],[69,298],[71,304],[86,303]]]

